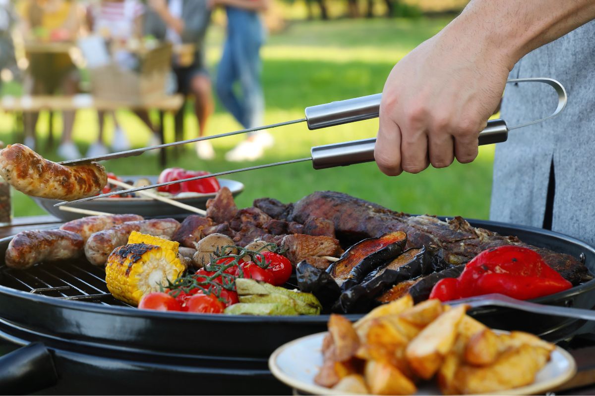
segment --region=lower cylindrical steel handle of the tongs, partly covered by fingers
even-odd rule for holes
[[[479,145],[505,142],[508,139],[508,126],[503,119],[487,122],[486,129],[480,132]],[[326,169],[374,161],[376,138],[354,140],[312,147],[312,166]]]

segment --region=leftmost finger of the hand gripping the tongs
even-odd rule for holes
[[[374,159],[378,169],[388,176],[398,176],[401,168],[401,130],[392,119],[380,116],[378,136],[374,146]]]

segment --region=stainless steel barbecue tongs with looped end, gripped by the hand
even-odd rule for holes
[[[508,139],[508,132],[513,129],[523,128],[524,126],[533,125],[534,123],[543,122],[553,116],[558,115],[566,106],[567,96],[566,90],[559,81],[553,78],[536,77],[536,78],[515,78],[507,81],[508,84],[516,83],[543,83],[550,85],[558,94],[558,107],[556,110],[545,118],[535,121],[523,123],[509,127],[503,119],[494,119],[487,122],[486,128],[479,134],[479,145],[494,144],[505,142]],[[327,128],[328,126],[342,125],[344,123],[363,121],[366,119],[377,118],[380,113],[380,100],[382,94],[375,94],[369,96],[358,97],[354,99],[341,100],[339,102],[331,102],[319,104],[318,106],[306,107],[306,117],[292,121],[274,123],[271,125],[258,126],[256,128],[242,129],[240,131],[227,132],[219,135],[212,135],[207,137],[200,137],[190,140],[177,141],[167,144],[155,145],[151,147],[136,148],[134,150],[122,151],[120,153],[107,154],[105,156],[88,157],[79,160],[63,161],[62,165],[76,165],[88,163],[90,161],[103,161],[116,158],[124,158],[131,156],[138,156],[148,150],[156,150],[158,148],[171,147],[179,144],[186,144],[191,142],[198,142],[202,140],[211,140],[215,138],[233,136],[238,134],[245,134],[246,132],[262,131],[264,129],[277,128],[278,126],[291,125],[293,123],[306,122],[308,128],[311,130]],[[265,167],[278,166],[284,164],[291,164],[303,161],[312,161],[314,169],[327,169],[336,166],[347,166],[352,164],[359,164],[374,161],[374,145],[376,138],[368,138],[363,140],[354,140],[348,142],[340,142],[334,144],[320,145],[311,148],[311,157],[281,161],[276,163],[250,166],[240,169],[226,170],[224,172],[211,173],[205,176],[196,176],[194,178],[187,178],[175,180],[167,183],[157,183],[150,186],[142,186],[131,188],[127,190],[108,192],[107,194],[96,195],[95,197],[88,197],[77,199],[76,201],[60,202],[54,206],[69,205],[76,202],[89,201],[96,198],[109,197],[117,194],[127,194],[129,192],[142,191],[145,189],[166,186],[173,183],[187,182],[190,180],[198,180],[204,178],[212,178],[216,176],[229,175],[231,173],[245,172],[246,170],[262,169]]]

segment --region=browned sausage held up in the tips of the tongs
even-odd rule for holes
[[[62,166],[22,144],[9,144],[0,151],[0,175],[24,194],[63,201],[96,195],[108,182],[98,163]]]

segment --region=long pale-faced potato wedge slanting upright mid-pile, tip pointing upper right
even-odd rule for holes
[[[416,375],[430,379],[436,373],[455,343],[459,323],[467,309],[468,306],[459,305],[444,312],[409,343],[405,356]]]

